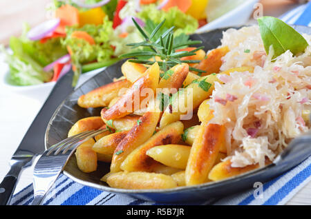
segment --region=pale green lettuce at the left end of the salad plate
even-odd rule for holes
[[[67,53],[59,39],[49,39],[46,43],[30,41],[26,34],[30,30],[28,23],[23,24],[19,37],[10,37],[9,54],[2,47],[6,63],[10,67],[10,83],[15,85],[37,85],[50,81],[53,72],[44,72],[44,66]]]

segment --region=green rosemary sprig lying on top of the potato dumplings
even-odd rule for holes
[[[176,51],[181,48],[187,48],[190,45],[197,45],[202,41],[192,41],[186,34],[180,34],[174,36],[173,29],[171,27],[165,30],[162,21],[158,25],[155,25],[152,21],[147,21],[147,27],[140,27],[140,25],[132,19],[135,27],[138,29],[144,41],[139,43],[127,44],[132,49],[142,48],[142,50],[135,50],[135,52],[129,52],[122,54],[121,59],[130,59],[133,63],[142,63],[146,65],[152,65],[156,62],[155,57],[160,57],[161,61],[158,64],[163,72],[167,72],[171,67],[181,63],[199,63],[199,60],[182,60],[182,57],[193,56],[196,51],[201,50],[204,46],[198,47],[191,51]],[[153,58],[153,59],[152,59]],[[195,72],[205,72],[198,70],[195,67],[189,67],[189,70]]]

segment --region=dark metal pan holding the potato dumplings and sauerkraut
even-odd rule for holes
[[[311,34],[311,28],[304,26],[294,26],[296,30],[301,33]],[[220,39],[223,37],[225,29],[214,30],[203,34],[193,34],[191,39],[202,41],[205,50],[211,50],[220,45]],[[86,81],[78,87],[66,100],[58,107],[55,114],[50,120],[46,130],[46,148],[58,143],[60,140],[66,138],[70,127],[79,119],[88,116],[100,116],[101,108],[84,109],[77,105],[77,99],[82,94],[86,94],[96,87],[100,87],[106,83],[111,83],[113,78],[122,76],[121,65],[123,61],[116,63],[93,78]],[[77,167],[75,156],[72,156],[68,161],[64,174],[77,183],[109,191],[115,194],[125,194],[140,198],[143,200],[151,200],[156,202],[182,202],[194,200],[208,200],[210,198],[219,198],[234,194],[238,191],[252,188],[254,183],[265,183],[276,176],[279,176],[285,171],[301,163],[305,158],[311,155],[310,134],[297,138],[295,147],[288,147],[281,156],[279,156],[274,163],[267,165],[261,169],[249,171],[247,174],[222,180],[217,183],[205,183],[202,185],[191,187],[178,187],[174,189],[148,189],[148,190],[134,190],[134,189],[115,189],[111,188],[106,183],[100,181],[104,174],[109,172],[109,164],[99,163],[97,171],[91,174],[85,174]]]

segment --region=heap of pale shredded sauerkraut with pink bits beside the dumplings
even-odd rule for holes
[[[221,71],[252,66],[254,72],[219,74],[209,105],[214,110],[210,123],[225,125],[226,159],[232,167],[245,167],[273,160],[292,138],[310,129],[311,36],[309,46],[293,56],[288,50],[271,60],[266,54],[258,26],[223,33],[222,45],[229,52]]]

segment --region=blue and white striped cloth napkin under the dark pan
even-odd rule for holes
[[[297,25],[311,25],[311,2],[291,10],[280,17],[283,21]],[[257,187],[241,194],[235,194],[220,200],[214,205],[284,205],[294,194],[311,180],[311,157],[285,174],[263,184],[262,193],[257,194]],[[32,184],[28,185],[12,197],[10,205],[30,205],[33,200]],[[147,202],[111,194],[91,187],[75,183],[61,175],[54,187],[46,196],[43,205],[158,205],[161,203]],[[185,205],[207,205],[206,202],[191,202]]]

